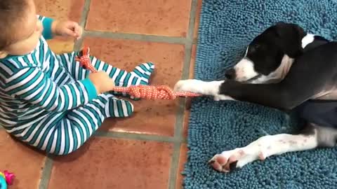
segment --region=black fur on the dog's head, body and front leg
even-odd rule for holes
[[[286,54],[294,59],[289,73],[279,83],[255,85],[238,82],[231,76],[232,79],[220,85],[219,93],[284,111],[296,108],[308,125],[314,123],[337,129],[337,96],[315,100],[320,92],[331,93],[337,88],[337,42],[315,36],[312,43],[302,48],[305,35],[298,25],[287,23],[278,23],[265,30],[249,44],[246,57],[254,62],[258,73],[267,75],[277,69]],[[334,146],[336,141],[331,143],[328,146]]]

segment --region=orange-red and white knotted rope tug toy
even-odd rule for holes
[[[84,47],[83,50],[79,52],[79,55],[75,58],[79,64],[84,69],[95,73],[97,70],[91,64],[90,49]],[[201,94],[193,92],[173,92],[169,86],[159,85],[159,86],[149,86],[149,85],[132,85],[130,87],[114,87],[116,92],[125,92],[131,97],[142,98],[142,99],[176,99],[176,97],[199,97]]]

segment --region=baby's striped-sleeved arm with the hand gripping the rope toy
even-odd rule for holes
[[[109,77],[107,76],[107,78]],[[16,99],[24,99],[47,111],[62,112],[86,104],[97,97],[100,92],[108,90],[106,89],[107,84],[105,84],[105,88],[100,87],[96,80],[104,82],[105,78],[93,76],[58,86],[39,68],[25,67],[6,78],[5,85],[6,93]]]

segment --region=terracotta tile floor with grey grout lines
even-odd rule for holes
[[[152,61],[154,85],[192,77],[201,0],[35,1],[39,14],[85,28],[79,41],[48,41],[55,52],[89,45],[91,54],[129,71]],[[0,169],[17,176],[10,189],[183,188],[188,100],[134,105],[131,118],[106,120],[83,147],[63,157],[34,151],[0,127]]]

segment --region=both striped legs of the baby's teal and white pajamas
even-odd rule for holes
[[[70,79],[65,83],[82,80],[89,73],[75,62],[74,55],[75,52],[57,55],[58,61],[70,74]],[[147,85],[154,69],[151,62],[140,64],[131,72],[117,69],[95,57],[91,57],[91,62],[99,71],[106,71],[117,86]],[[126,100],[117,99],[115,95],[123,94],[99,94],[88,104],[62,113],[48,113],[38,123],[12,134],[41,151],[67,155],[82,146],[105,118],[128,117],[133,113],[133,105]]]

